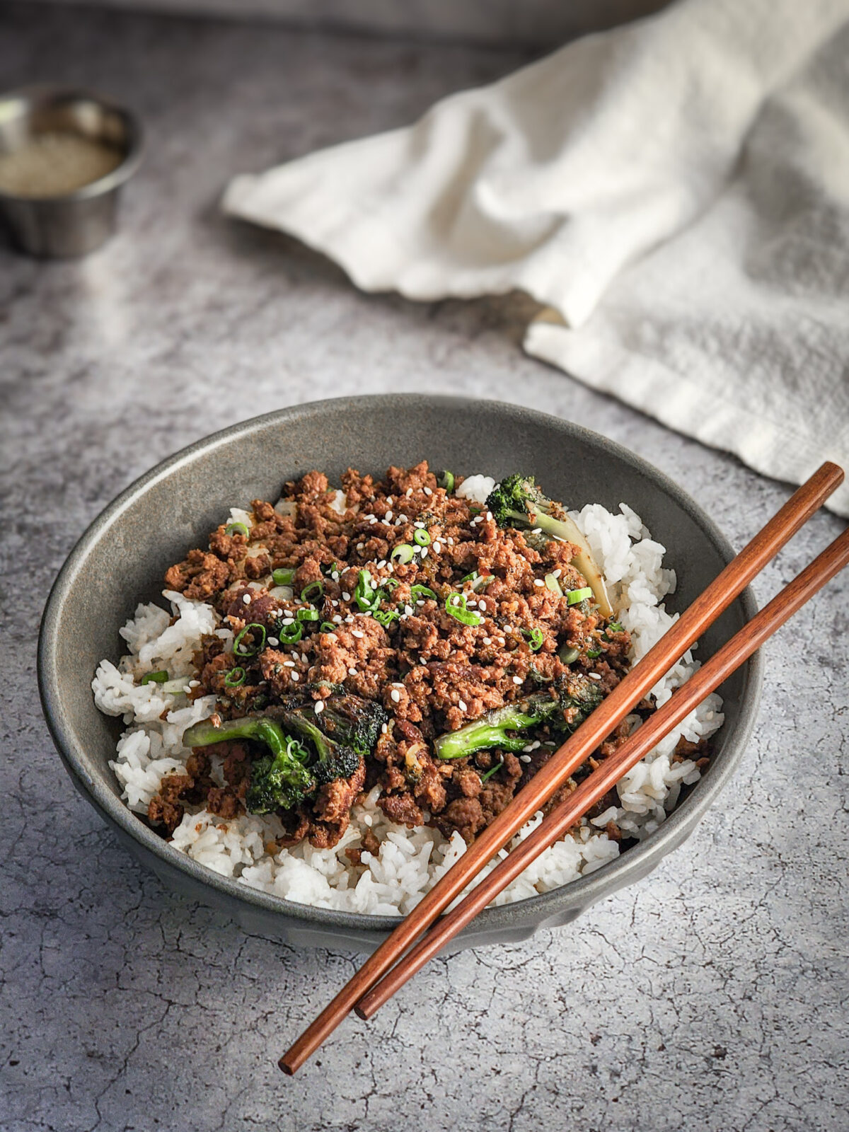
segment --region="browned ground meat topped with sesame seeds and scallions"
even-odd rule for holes
[[[331,694],[376,701],[388,713],[355,774],[281,812],[278,843],[336,844],[358,795],[374,786],[393,821],[430,822],[472,841],[564,736],[542,727],[520,756],[481,751],[451,762],[435,757],[434,740],[574,674],[591,675],[606,695],[627,670],[629,636],[546,583],[555,575],[564,592],[585,585],[571,543],[499,529],[486,507],[439,488],[426,462],[393,466],[383,481],[349,469],[341,482],[344,498],[325,473],[308,472],[284,484],[278,504],[252,501],[247,535],[222,524],[207,548],[166,572],[170,589],[209,602],[239,642],[234,655],[220,634],[204,638],[191,695],[215,695],[222,719],[273,715],[281,705]],[[414,554],[393,558],[402,544]],[[281,569],[291,591],[271,577]],[[447,603],[456,592],[478,624],[452,616]],[[609,756],[625,735],[617,729],[595,757]],[[187,801],[223,817],[243,811],[251,763],[266,748],[218,746],[190,763],[187,775],[164,780],[151,822],[171,832]],[[211,777],[214,754],[223,755],[223,786]],[[676,757],[691,754],[681,748]],[[365,840],[346,851],[359,860],[363,848],[374,851]]]

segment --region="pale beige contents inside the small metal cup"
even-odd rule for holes
[[[61,197],[100,180],[122,161],[120,149],[82,134],[33,134],[19,149],[0,154],[0,192]]]

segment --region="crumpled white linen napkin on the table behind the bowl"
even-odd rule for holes
[[[530,353],[765,474],[849,471],[849,0],[683,0],[223,207],[367,291],[526,291]]]

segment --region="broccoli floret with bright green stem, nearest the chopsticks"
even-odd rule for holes
[[[490,747],[522,751],[528,745],[528,736],[508,735],[508,731],[526,731],[540,723],[548,723],[556,731],[574,731],[602,700],[599,688],[583,676],[573,676],[554,685],[554,689],[556,696],[538,692],[515,704],[487,712],[458,731],[440,735],[434,744],[437,757],[464,758]]]

